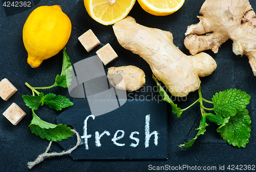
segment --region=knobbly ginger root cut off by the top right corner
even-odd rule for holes
[[[200,22],[188,26],[184,45],[194,55],[205,50],[218,52],[228,39],[233,52],[246,55],[256,76],[256,16],[248,0],[206,0]]]

